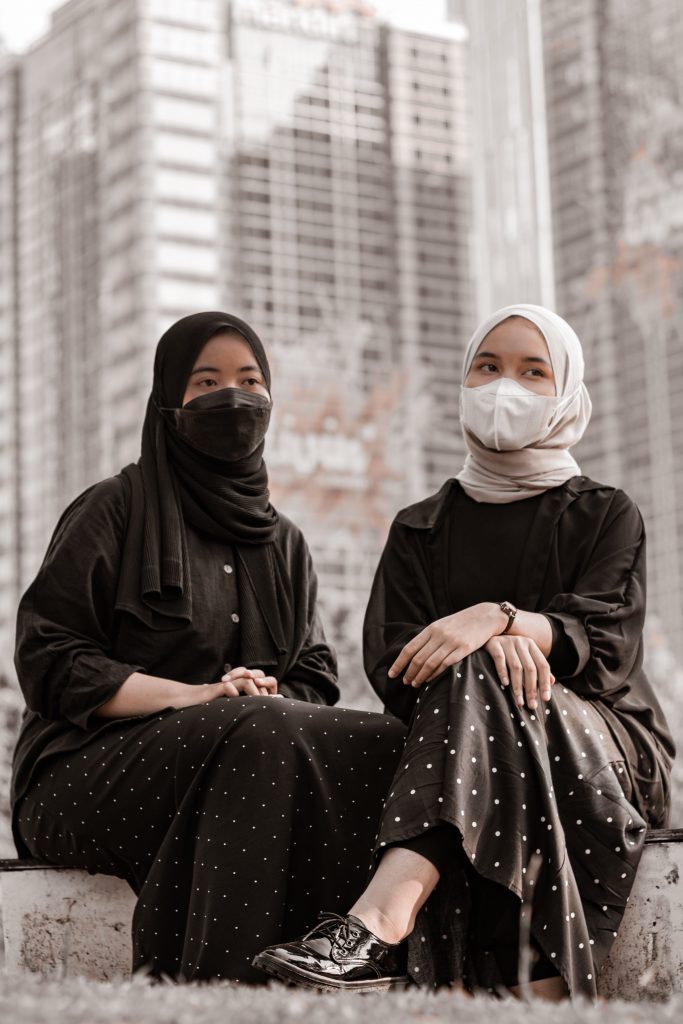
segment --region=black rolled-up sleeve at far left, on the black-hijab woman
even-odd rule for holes
[[[143,666],[109,656],[125,505],[112,477],[65,511],[19,602],[14,665],[28,708],[87,729]]]

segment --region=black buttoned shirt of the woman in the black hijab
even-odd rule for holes
[[[12,806],[40,758],[78,749],[108,721],[97,716],[133,673],[201,684],[241,663],[239,559],[230,545],[185,523],[193,622],[153,630],[116,609],[127,509],[120,477],[88,488],[62,515],[17,612],[14,664],[27,709],[14,752]],[[316,609],[317,583],[305,539],[280,516],[275,543],[296,607],[287,651],[257,666],[279,691],[318,703],[339,698],[337,664]]]

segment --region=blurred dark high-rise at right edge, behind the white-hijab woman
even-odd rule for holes
[[[541,5],[558,311],[586,348],[584,470],[647,527],[648,605],[683,657],[683,8]]]

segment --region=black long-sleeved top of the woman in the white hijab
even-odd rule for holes
[[[425,626],[482,600],[548,616],[550,664],[599,701],[623,742],[639,730],[673,758],[674,742],[643,670],[645,530],[635,503],[585,476],[520,502],[493,505],[447,480],[395,517],[366,613],[373,687],[408,722],[417,691],[387,670]]]

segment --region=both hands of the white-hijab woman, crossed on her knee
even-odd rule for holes
[[[555,677],[531,637],[500,636],[501,628],[501,609],[493,602],[438,618],[405,644],[389,669],[389,678],[403,673],[404,685],[422,686],[483,647],[494,659],[501,683],[512,687],[515,703],[521,708],[526,700],[533,710],[539,693],[542,700],[550,700]]]

